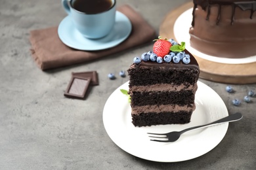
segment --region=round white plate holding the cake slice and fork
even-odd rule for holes
[[[174,143],[150,141],[148,132],[166,133],[207,124],[228,116],[228,110],[214,90],[198,81],[196,110],[189,124],[135,127],[131,123],[131,107],[127,96],[120,92],[120,89],[128,90],[128,84],[129,82],[126,82],[117,88],[106,101],[103,122],[112,141],[129,154],[145,160],[161,162],[190,160],[215,148],[226,134],[228,123],[188,131]]]

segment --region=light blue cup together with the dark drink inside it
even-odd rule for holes
[[[100,39],[116,23],[116,0],[62,0],[74,27],[87,39]]]

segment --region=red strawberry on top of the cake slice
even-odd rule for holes
[[[154,54],[158,55],[161,58],[169,54],[171,42],[167,41],[167,39],[161,39],[161,37],[158,37],[158,39],[155,39],[154,41],[156,41],[153,46]]]

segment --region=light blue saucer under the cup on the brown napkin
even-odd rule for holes
[[[58,25],[58,37],[60,40],[77,50],[104,50],[125,41],[131,33],[132,25],[124,14],[116,12],[116,23],[112,31],[101,39],[87,39],[75,29],[70,16],[66,16]]]

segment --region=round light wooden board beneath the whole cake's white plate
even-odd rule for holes
[[[186,10],[191,9],[193,3],[185,3],[176,10],[169,12],[160,25],[161,37],[175,38],[173,26],[177,18]],[[209,61],[193,56],[200,67],[200,78],[226,84],[252,84],[256,83],[256,62],[243,64],[228,64]]]

